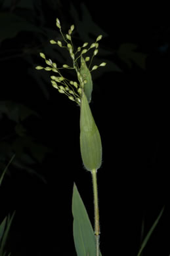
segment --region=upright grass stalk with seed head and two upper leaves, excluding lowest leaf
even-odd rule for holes
[[[99,256],[99,211],[98,211],[98,192],[96,173],[102,162],[102,143],[100,133],[96,127],[95,119],[91,113],[89,102],[91,102],[91,94],[93,91],[93,81],[91,72],[99,67],[106,66],[106,62],[102,62],[99,66],[92,66],[94,56],[98,53],[98,41],[102,39],[102,35],[98,35],[96,41],[89,45],[88,42],[83,43],[81,47],[74,48],[72,42],[72,32],[74,25],[70,27],[68,33],[62,33],[60,20],[56,18],[56,26],[60,30],[63,41],[54,41],[51,39],[51,44],[56,44],[61,48],[66,49],[72,58],[72,66],[63,64],[58,68],[57,64],[51,59],[47,59],[44,53],[40,53],[41,58],[45,59],[47,67],[37,66],[37,70],[53,71],[56,75],[51,75],[51,83],[59,93],[65,94],[72,101],[75,101],[80,106],[80,150],[83,165],[87,171],[91,172],[93,177],[93,192],[94,192],[94,208],[95,208],[95,237],[96,237],[96,256]],[[92,56],[89,56],[89,51],[93,51]],[[89,62],[89,65],[87,63]],[[77,75],[77,81],[70,81],[62,75],[61,70],[74,70]],[[90,252],[89,252],[90,253]]]

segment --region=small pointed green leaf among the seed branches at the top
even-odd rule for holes
[[[85,79],[87,83],[84,85],[85,95],[87,96],[88,102],[91,102],[91,93],[93,91],[93,81],[91,79],[91,72],[89,71],[89,68],[87,68],[86,62],[81,56],[81,68],[80,68],[80,74],[83,80]]]

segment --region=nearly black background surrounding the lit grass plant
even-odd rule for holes
[[[103,146],[98,170],[102,255],[137,255],[165,206],[147,255],[169,255],[169,17],[166,7],[97,1],[0,1],[0,221],[16,210],[11,255],[76,255],[74,182],[93,223],[91,175],[79,152],[79,107],[51,87],[39,52],[67,64],[55,20],[79,46],[100,34],[91,110]],[[70,77],[74,77],[69,74]]]

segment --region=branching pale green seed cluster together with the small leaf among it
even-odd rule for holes
[[[89,43],[85,42],[81,47],[77,47],[77,51],[74,51],[74,45],[72,43],[72,32],[74,32],[74,25],[70,26],[70,29],[68,30],[68,33],[66,33],[65,36],[62,33],[60,20],[58,20],[58,18],[56,18],[56,26],[60,30],[64,43],[62,43],[62,41],[59,41],[59,40],[55,41],[53,39],[50,40],[50,43],[52,45],[56,44],[59,47],[66,48],[70,53],[70,57],[72,58],[73,66],[70,67],[67,64],[63,64],[61,68],[58,68],[56,63],[52,62],[51,59],[48,60],[44,53],[39,53],[41,58],[45,60],[45,63],[47,64],[47,66],[45,68],[42,66],[37,66],[36,69],[57,73],[57,76],[51,75],[51,84],[53,85],[54,88],[58,89],[59,93],[63,93],[67,95],[70,100],[73,100],[80,105],[82,90],[83,90],[85,91],[85,95],[87,95],[87,98],[90,102],[91,92],[93,89],[90,72],[93,70],[96,70],[96,68],[100,66],[106,65],[105,62],[102,62],[99,66],[96,66],[96,65],[93,66],[93,68],[90,71],[90,66],[91,66],[93,57],[96,56],[96,54],[98,53],[98,41],[102,39],[102,35],[98,35],[95,43],[92,43],[89,47],[87,47]],[[95,51],[93,52],[93,56],[91,58],[89,56],[85,56],[85,58],[83,58],[83,54],[86,54],[89,50],[93,48],[95,48]],[[80,66],[78,64],[79,59],[81,60]],[[89,60],[91,61],[89,66],[87,67],[85,63],[89,62]],[[70,81],[69,79],[66,79],[65,77],[63,77],[62,74],[60,73],[60,70],[63,68],[74,69],[77,74],[77,81]]]

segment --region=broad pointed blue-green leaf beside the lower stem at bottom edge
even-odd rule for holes
[[[95,234],[75,183],[72,213],[74,216],[74,244],[77,256],[96,255]],[[101,253],[100,256],[102,256]]]

